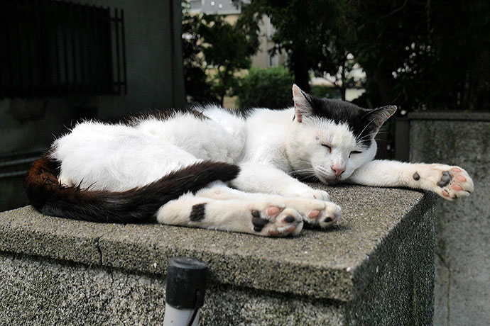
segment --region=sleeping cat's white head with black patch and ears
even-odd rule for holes
[[[297,174],[325,183],[342,181],[376,154],[374,136],[396,106],[373,110],[317,99],[293,85],[295,115],[286,145]]]

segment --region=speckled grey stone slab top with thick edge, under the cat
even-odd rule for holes
[[[195,257],[207,262],[215,283],[349,301],[435,200],[406,189],[315,186],[342,207],[342,219],[328,230],[303,230],[298,237],[89,223],[26,206],[0,213],[0,251],[159,275],[171,257]]]

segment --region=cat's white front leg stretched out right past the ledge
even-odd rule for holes
[[[473,181],[460,167],[374,160],[356,169],[347,182],[366,186],[404,186],[434,191],[453,200],[469,196]]]

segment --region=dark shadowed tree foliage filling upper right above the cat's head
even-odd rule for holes
[[[288,52],[305,90],[310,72],[328,73],[343,94],[357,62],[366,72],[362,106],[490,108],[488,0],[252,0],[240,21],[254,26],[262,14],[276,28],[273,51]]]

